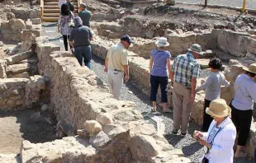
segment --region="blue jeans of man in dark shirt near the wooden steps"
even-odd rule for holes
[[[92,49],[91,46],[77,46],[74,48],[74,57],[78,59],[78,63],[91,69]]]

